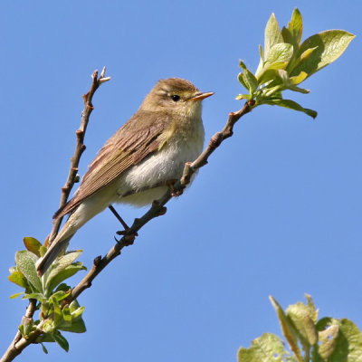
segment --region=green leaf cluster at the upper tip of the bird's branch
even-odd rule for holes
[[[264,48],[259,46],[260,62],[255,74],[244,62],[240,62],[243,71],[239,73],[238,80],[248,93],[239,94],[237,100],[255,100],[253,107],[269,104],[317,117],[315,110],[303,108],[294,100],[283,99],[282,92],[309,93],[310,90],[299,87],[300,83],[336,61],[355,35],[344,30],[327,30],[301,42],[302,33],[303,21],[297,8],[288,26],[282,29],[275,15],[271,14],[265,27]]]

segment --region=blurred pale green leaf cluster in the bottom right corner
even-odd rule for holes
[[[271,333],[252,341],[250,348],[240,348],[238,362],[340,362],[362,361],[362,333],[348,319],[318,319],[310,295],[307,303],[298,302],[285,311],[272,297],[284,338]]]

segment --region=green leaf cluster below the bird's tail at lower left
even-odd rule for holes
[[[28,338],[35,329],[41,329],[36,343],[42,344],[44,352],[47,352],[44,342],[57,342],[68,351],[69,344],[61,330],[74,333],[86,331],[81,317],[84,307],[77,300],[68,300],[71,287],[63,283],[76,272],[86,269],[81,262],[75,262],[81,251],[64,253],[40,278],[36,272],[36,263],[47,248],[33,237],[25,237],[24,245],[26,250],[16,252],[15,266],[10,269],[8,277],[9,281],[24,288],[24,291],[11,298],[24,294],[23,299],[36,300],[39,319],[25,320],[19,330],[24,338]]]

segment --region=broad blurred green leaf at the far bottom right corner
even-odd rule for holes
[[[362,360],[362,333],[352,321],[323,318],[317,329],[319,344],[313,349],[313,362]]]

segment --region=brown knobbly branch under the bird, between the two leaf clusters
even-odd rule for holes
[[[187,162],[184,168],[183,176],[176,182],[174,185],[174,190],[168,190],[165,195],[163,195],[159,200],[153,202],[151,208],[146,214],[140,218],[136,218],[133,224],[125,230],[123,236],[119,241],[110,249],[110,251],[102,258],[98,256],[94,259],[93,266],[87,275],[79,282],[79,284],[73,288],[71,291],[71,300],[75,300],[78,296],[85,291],[87,288],[90,288],[91,282],[96,278],[96,276],[102,271],[113,259],[119,256],[120,251],[125,247],[133,244],[136,236],[138,236],[138,231],[147,224],[150,220],[154,219],[157,216],[166,213],[165,205],[176,193],[181,195],[186,185],[190,182],[190,178],[195,174],[196,170],[200,167],[204,167],[207,164],[208,157],[218,148],[224,139],[233,136],[233,125],[238,119],[243,117],[246,113],[249,113],[252,110],[254,105],[253,100],[247,101],[241,110],[237,112],[229,113],[229,118],[224,126],[224,129],[220,132],[216,132],[214,136],[210,139],[207,147],[203,153],[195,159],[194,162]]]

